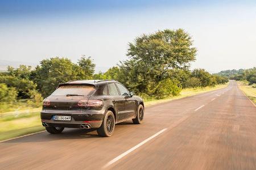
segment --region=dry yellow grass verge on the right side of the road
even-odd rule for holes
[[[238,82],[240,89],[245,93],[245,95],[256,104],[256,88],[253,85],[248,85],[247,81]],[[255,86],[255,85],[254,85]]]

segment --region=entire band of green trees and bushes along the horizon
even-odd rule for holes
[[[0,95],[7,95],[3,92],[7,88],[9,96],[14,97],[13,100],[26,99],[28,105],[39,106],[43,97],[50,95],[60,83],[84,79],[115,79],[138,95],[163,99],[179,95],[181,88],[224,84],[228,82],[228,78],[223,75],[237,74],[234,70],[222,71],[218,75],[209,74],[204,69],[191,72],[189,66],[196,59],[196,48],[193,47],[191,36],[183,29],[164,29],[143,34],[134,42],[129,42],[127,56],[129,59],[105,73],[97,74],[94,74],[96,65],[93,59],[85,56],[77,63],[60,57],[43,59],[34,70],[31,66],[24,65],[16,69],[8,67],[5,73],[0,73],[0,83],[3,83]],[[242,78],[255,82],[255,71],[242,70],[242,73]]]

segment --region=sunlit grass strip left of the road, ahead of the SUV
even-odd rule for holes
[[[204,92],[218,90],[218,89],[224,88],[226,86],[228,86],[228,83],[219,84],[219,85],[214,86],[214,87],[185,88],[185,89],[181,90],[179,96],[167,97],[166,99],[160,99],[160,100],[158,100],[158,99],[146,99],[144,104],[145,104],[145,106],[155,105],[155,104],[164,103],[164,102],[175,100],[175,99],[181,99],[181,98],[188,97],[188,96],[194,96],[194,95],[202,94]]]

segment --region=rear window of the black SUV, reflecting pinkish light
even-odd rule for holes
[[[57,88],[51,96],[89,96],[95,91],[94,86],[66,85]]]

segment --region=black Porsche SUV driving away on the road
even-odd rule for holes
[[[79,80],[59,84],[43,101],[42,125],[49,133],[64,128],[97,129],[110,137],[115,124],[132,119],[142,124],[144,104],[139,96],[115,80]]]

